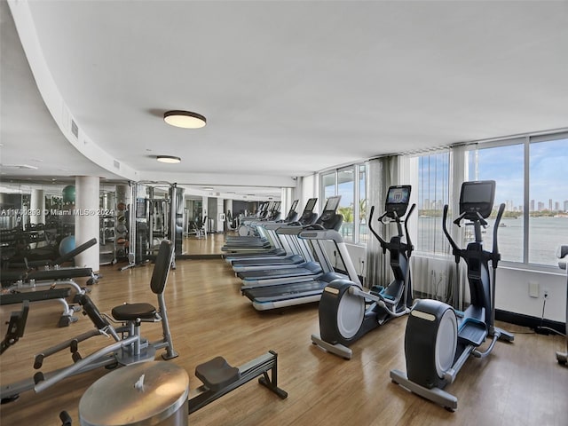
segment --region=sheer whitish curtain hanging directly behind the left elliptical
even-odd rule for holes
[[[375,206],[373,215],[373,229],[383,237],[383,240],[390,241],[390,237],[396,231],[391,226],[383,225],[376,220],[383,214],[384,201],[390,185],[398,185],[398,156],[385,156],[370,160],[367,166],[367,202],[370,206]],[[392,280],[390,272],[389,252],[383,255],[383,249],[375,236],[370,235],[367,241],[367,280],[365,285],[371,288],[374,285],[386,286]]]

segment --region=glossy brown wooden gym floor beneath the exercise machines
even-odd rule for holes
[[[208,240],[185,240],[187,253],[215,253],[223,235]],[[92,287],[91,298],[102,312],[129,301],[155,303],[149,290],[153,265],[117,271],[101,267],[104,278]],[[446,390],[458,397],[458,409],[449,413],[390,382],[392,368],[406,370],[404,331],[406,318],[375,329],[352,345],[346,361],[312,345],[319,332],[317,304],[278,312],[256,312],[239,291],[241,281],[221,259],[177,261],[170,273],[166,302],[177,364],[190,375],[192,389],[201,383],[195,367],[217,355],[234,366],[265,351],[279,353],[279,384],[288,391],[281,400],[252,381],[190,415],[192,425],[540,425],[568,424],[568,368],[556,363],[563,349],[558,336],[534,335],[530,330],[501,323],[516,332],[515,343],[498,343],[486,359],[469,359],[456,383]],[[7,309],[8,308],[8,309]],[[1,311],[2,336],[10,307]],[[79,335],[93,326],[83,315],[75,324],[57,328],[60,307],[34,304],[26,333],[0,359],[2,384],[35,373],[36,352]],[[161,336],[159,325],[144,324],[144,335]],[[83,354],[111,343],[98,336],[80,343]],[[565,347],[565,346],[564,346]],[[68,352],[45,360],[49,371],[71,362]],[[59,412],[67,410],[78,425],[83,392],[105,369],[69,378],[39,394],[29,391],[0,406],[0,424],[59,425]]]

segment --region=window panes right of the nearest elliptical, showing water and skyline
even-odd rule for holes
[[[568,242],[568,134],[479,144],[468,151],[467,164],[469,180],[496,181],[485,247],[491,249],[493,217],[503,203],[498,230],[501,260],[556,266],[556,248]]]

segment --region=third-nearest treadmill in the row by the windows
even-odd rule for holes
[[[247,252],[235,252],[229,253],[225,255],[225,261],[228,264],[233,264],[237,260],[241,259],[254,259],[254,258],[274,258],[274,256],[288,256],[294,254],[294,249],[290,247],[290,242],[285,239],[280,239],[280,237],[276,234],[276,230],[279,229],[281,226],[284,225],[312,225],[318,215],[314,213],[313,209],[318,202],[317,198],[309,199],[304,207],[304,212],[302,216],[294,222],[296,219],[292,219],[288,224],[266,224],[263,225],[266,232],[271,235],[272,240],[274,241],[274,247],[270,250],[256,250],[256,251],[247,251]],[[288,212],[288,217],[297,216],[296,211],[292,214],[292,209]],[[288,218],[287,217],[287,218]]]

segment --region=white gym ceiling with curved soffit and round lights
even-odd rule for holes
[[[3,2],[4,181],[280,195],[292,177],[379,154],[568,126],[565,1],[9,3],[56,102],[43,104]],[[208,124],[172,128],[169,109]]]

